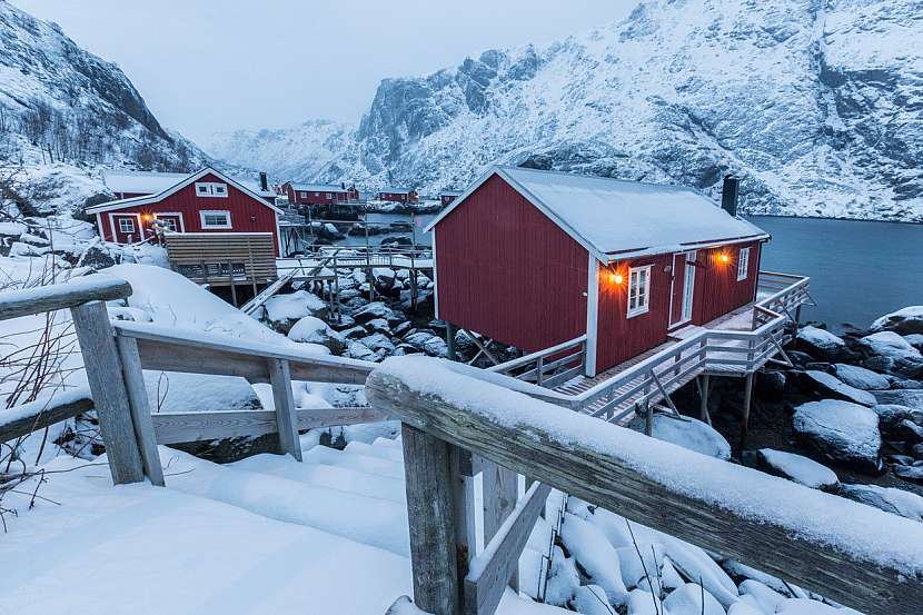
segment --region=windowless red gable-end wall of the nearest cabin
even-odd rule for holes
[[[586,333],[587,251],[503,179],[435,231],[439,318],[527,353]]]

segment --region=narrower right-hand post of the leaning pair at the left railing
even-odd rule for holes
[[[145,373],[141,369],[141,357],[138,355],[138,341],[133,337],[116,336],[116,345],[119,348],[122,377],[128,391],[131,423],[135,426],[135,439],[138,442],[141,464],[148,479],[162,487],[165,485],[163,467],[160,465],[160,454],[157,452],[157,436],[153,433]]]

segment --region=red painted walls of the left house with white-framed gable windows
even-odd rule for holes
[[[225,182],[222,179],[212,175],[206,175],[198,181]],[[199,211],[202,210],[230,211],[231,228],[201,228]],[[196,196],[196,183],[193,182],[156,204],[126,207],[116,211],[103,211],[98,217],[101,227],[99,234],[107,241],[126,242],[127,238],[118,232],[118,219],[120,217],[131,216],[136,220],[137,229],[137,220],[138,216],[140,216],[143,237],[139,238],[136,232],[132,238],[135,242],[138,242],[151,236],[150,229],[153,224],[155,214],[175,211],[182,214],[183,230],[186,232],[271,232],[275,237],[274,244],[278,252],[279,238],[276,232],[276,212],[267,207],[262,199],[255,199],[229,183],[227,198],[198,197]],[[116,227],[115,236],[112,232],[112,221],[115,221]]]

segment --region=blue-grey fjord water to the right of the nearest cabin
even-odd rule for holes
[[[923,225],[818,218],[753,216],[770,232],[760,268],[811,276],[817,307],[802,321],[832,330],[872,320],[910,305],[923,305]]]

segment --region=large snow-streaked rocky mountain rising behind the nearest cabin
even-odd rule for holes
[[[297,147],[311,125],[221,155],[278,139],[296,147],[274,171],[425,191],[498,160],[711,195],[733,171],[751,212],[923,220],[921,40],[920,0],[653,0],[546,49],[384,80],[319,172],[328,141]]]

